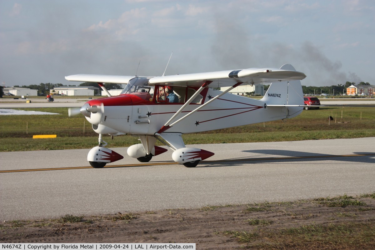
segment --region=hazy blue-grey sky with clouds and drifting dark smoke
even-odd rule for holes
[[[280,68],[375,85],[374,0],[0,0],[5,87],[74,74]]]

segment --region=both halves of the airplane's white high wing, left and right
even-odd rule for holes
[[[70,75],[65,79],[79,82],[104,82],[126,84],[137,76],[116,75]],[[212,82],[214,87],[231,87],[235,84],[261,84],[276,81],[302,80],[306,75],[295,70],[273,68],[251,68],[239,70],[223,70],[205,73],[192,73],[182,75],[168,75],[151,77],[149,84],[163,84],[171,86],[201,87],[205,82]]]

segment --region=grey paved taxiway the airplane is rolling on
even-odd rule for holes
[[[139,162],[126,156],[126,148],[116,148],[124,159],[108,165],[115,168],[0,173],[0,219],[371,193],[375,191],[374,139],[194,145],[215,153],[196,168],[129,166]],[[3,152],[0,171],[89,166],[88,151]],[[169,150],[150,163],[171,163],[171,154]]]

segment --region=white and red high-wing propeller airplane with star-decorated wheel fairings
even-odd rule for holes
[[[172,159],[186,167],[213,156],[206,150],[187,148],[182,135],[246,124],[292,118],[303,110],[300,80],[306,75],[290,64],[280,69],[251,68],[168,76],[71,75],[69,81],[97,82],[108,97],[86,102],[78,113],[92,123],[99,134],[99,145],[87,160],[94,168],[123,159],[105,148],[102,135],[138,136],[141,144],[127,154],[140,162],[164,153],[155,145],[161,141],[174,152]],[[228,93],[245,84],[271,83],[260,100]],[[126,84],[118,96],[111,96],[103,83]],[[225,91],[214,88],[230,87]],[[77,113],[71,110],[71,114]],[[71,115],[70,114],[70,115]]]

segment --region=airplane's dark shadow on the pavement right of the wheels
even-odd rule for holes
[[[291,150],[246,150],[242,151],[252,153],[251,157],[232,158],[217,161],[203,161],[198,167],[216,167],[216,166],[242,166],[243,164],[260,163],[292,163],[292,162],[323,162],[325,160],[336,160],[352,163],[375,163],[374,152],[353,152],[351,155],[332,155],[317,154]],[[254,155],[256,154],[256,155]],[[205,166],[202,166],[205,164]],[[200,166],[201,165],[201,166]],[[374,165],[375,166],[375,165]]]

